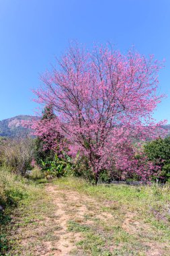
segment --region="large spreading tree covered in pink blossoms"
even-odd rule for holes
[[[124,145],[157,136],[159,125],[151,114],[162,98],[157,96],[161,64],[135,51],[122,55],[108,46],[88,51],[76,44],[58,65],[35,92],[37,101],[52,104],[57,115],[44,123],[44,132],[55,127],[67,138],[72,156],[87,157],[95,184],[113,161],[130,168],[132,152],[126,149],[131,147]],[[56,147],[53,137],[45,140]]]

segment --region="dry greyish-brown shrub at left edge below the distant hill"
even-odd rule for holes
[[[33,141],[26,139],[7,139],[0,146],[0,162],[15,174],[26,174],[33,158]]]

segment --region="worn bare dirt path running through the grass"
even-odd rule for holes
[[[56,207],[54,220],[60,229],[55,231],[58,236],[58,240],[55,243],[48,245],[49,249],[56,248],[56,251],[52,255],[67,256],[73,249],[75,249],[75,243],[81,240],[81,236],[77,232],[68,232],[68,223],[70,221],[81,223],[84,222],[84,216],[86,214],[92,214],[93,212],[87,210],[87,203],[97,204],[95,200],[89,199],[85,195],[81,195],[76,191],[65,190],[61,191],[59,187],[55,185],[46,186],[46,192],[50,193],[53,198],[53,203]],[[51,250],[45,255],[50,255]]]

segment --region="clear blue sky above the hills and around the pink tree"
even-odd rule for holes
[[[166,59],[159,75],[167,98],[155,112],[170,123],[169,0],[0,0],[0,120],[32,115],[40,74],[65,52],[69,40],[107,41]]]

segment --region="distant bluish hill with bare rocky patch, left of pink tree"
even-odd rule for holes
[[[22,121],[38,119],[38,117],[19,115],[17,117],[11,117],[0,121],[0,136],[3,137],[26,137],[30,132],[29,129],[22,126]]]

